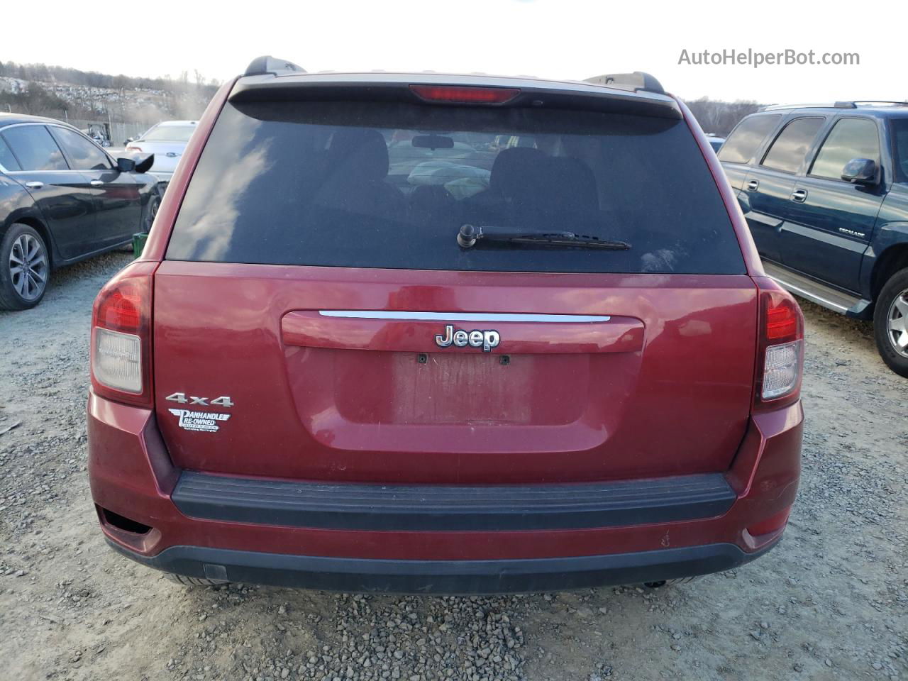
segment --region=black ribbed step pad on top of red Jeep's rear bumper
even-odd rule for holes
[[[735,492],[719,473],[525,486],[384,486],[184,471],[173,503],[192,518],[298,528],[507,531],[714,518]]]

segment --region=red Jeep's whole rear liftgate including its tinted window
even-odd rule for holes
[[[757,295],[671,100],[609,112],[587,93],[568,112],[544,105],[562,94],[483,109],[364,92],[285,88],[215,124],[154,278],[174,463],[439,484],[727,469]],[[464,223],[629,248],[464,249]]]

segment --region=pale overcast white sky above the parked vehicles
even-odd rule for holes
[[[0,59],[133,76],[225,80],[272,54],[307,71],[646,71],[686,99],[905,100],[908,3],[269,0],[44,1],[3,10]],[[105,17],[112,15],[110,24]],[[858,54],[859,64],[696,64],[704,50]],[[685,52],[686,51],[686,52]],[[679,63],[684,62],[684,63]]]

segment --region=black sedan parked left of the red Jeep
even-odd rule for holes
[[[50,118],[0,114],[0,310],[35,307],[55,268],[147,231],[161,202],[152,163],[114,159]]]

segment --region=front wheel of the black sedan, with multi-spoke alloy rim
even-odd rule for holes
[[[0,240],[0,310],[34,308],[50,281],[50,254],[41,234],[14,222]]]

